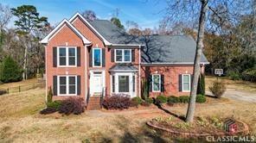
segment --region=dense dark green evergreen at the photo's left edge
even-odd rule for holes
[[[0,72],[0,80],[3,81],[3,83],[22,80],[22,70],[10,56],[3,59]]]

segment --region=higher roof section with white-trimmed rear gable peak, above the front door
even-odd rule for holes
[[[76,13],[72,16],[69,22],[73,23],[77,17],[91,28],[107,46],[140,46],[137,42],[132,41],[133,36],[127,34],[124,29],[118,28],[116,25],[112,24],[112,22],[107,20],[88,22],[80,13]]]

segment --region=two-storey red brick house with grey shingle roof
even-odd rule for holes
[[[195,58],[190,36],[132,36],[106,20],[87,22],[79,13],[64,19],[45,44],[47,87],[54,100],[123,93],[141,96],[147,80],[150,96],[189,95]],[[208,60],[202,55],[202,72]]]

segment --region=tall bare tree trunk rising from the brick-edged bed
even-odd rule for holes
[[[196,97],[196,90],[198,84],[198,78],[201,72],[200,69],[200,61],[202,55],[202,48],[203,48],[203,36],[204,36],[204,27],[205,27],[205,19],[206,19],[206,11],[208,9],[208,0],[201,0],[201,12],[199,18],[199,28],[196,40],[196,51],[195,51],[195,61],[194,61],[194,74],[193,74],[193,81],[190,91],[190,100],[189,100],[189,107],[187,110],[186,115],[186,122],[193,122],[194,113],[195,113],[195,97]]]

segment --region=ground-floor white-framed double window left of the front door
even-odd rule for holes
[[[77,95],[77,76],[58,76],[57,83],[59,96]]]

